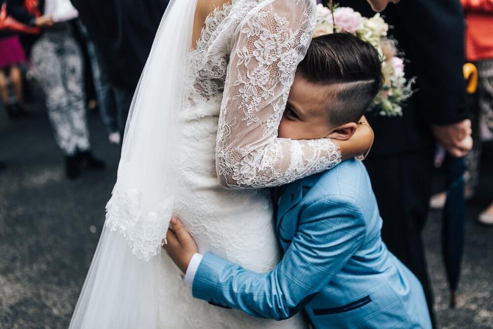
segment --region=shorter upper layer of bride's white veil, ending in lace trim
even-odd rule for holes
[[[170,1],[132,101],[106,226],[123,234],[134,255],[155,256],[169,225],[178,116],[196,0]]]

